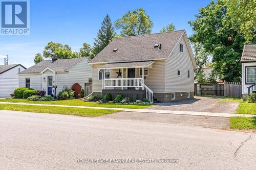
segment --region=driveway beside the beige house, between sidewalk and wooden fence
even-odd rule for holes
[[[236,113],[238,102],[222,102],[221,99],[195,96],[194,99],[186,99],[178,102],[157,103],[147,109],[179,110],[212,113]]]

